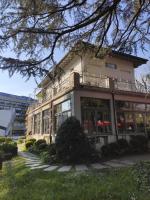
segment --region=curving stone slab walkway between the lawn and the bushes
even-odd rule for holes
[[[25,158],[25,164],[31,170],[42,169],[45,172],[54,171],[54,170],[58,172],[69,172],[72,169],[78,172],[84,172],[91,169],[102,170],[102,169],[110,169],[110,168],[128,167],[140,161],[150,161],[150,154],[146,154],[146,155],[128,156],[122,159],[113,159],[113,160],[109,160],[103,163],[93,163],[89,166],[87,165],[62,166],[62,165],[43,164],[40,158],[28,152],[19,152],[18,154],[22,156],[23,158]]]

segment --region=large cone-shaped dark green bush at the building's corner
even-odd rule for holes
[[[56,136],[56,155],[65,163],[88,162],[92,149],[75,117],[68,118],[58,129]]]

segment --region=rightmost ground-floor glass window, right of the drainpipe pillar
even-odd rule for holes
[[[118,133],[135,134],[150,131],[150,105],[116,101]]]

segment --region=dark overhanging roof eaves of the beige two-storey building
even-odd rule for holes
[[[50,71],[50,74],[53,73],[55,69],[58,67],[63,69],[64,66],[66,66],[76,55],[78,55],[77,52],[80,53],[81,50],[88,50],[88,49],[91,49],[91,51],[94,50],[96,52],[96,48],[97,48],[96,45],[93,45],[87,42],[83,42],[83,41],[77,42],[77,44],[74,45],[74,47],[59,61],[59,63],[53,67],[52,71]],[[107,55],[113,55],[113,56],[116,56],[128,61],[131,61],[133,62],[134,68],[137,68],[138,66],[142,64],[146,64],[148,61],[145,58],[133,56],[131,54],[122,53],[122,52],[114,51],[114,50],[111,50]],[[48,82],[49,82],[49,74],[46,75],[45,78],[41,81],[41,83],[39,84],[39,87],[41,87],[41,85],[46,84]]]

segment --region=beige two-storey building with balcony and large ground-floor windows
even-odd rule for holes
[[[97,145],[150,131],[150,97],[134,76],[147,60],[116,51],[95,57],[95,49],[71,50],[51,72],[61,69],[61,75],[54,81],[48,75],[40,83],[39,102],[27,112],[30,137],[54,141],[69,116],[80,120]]]

